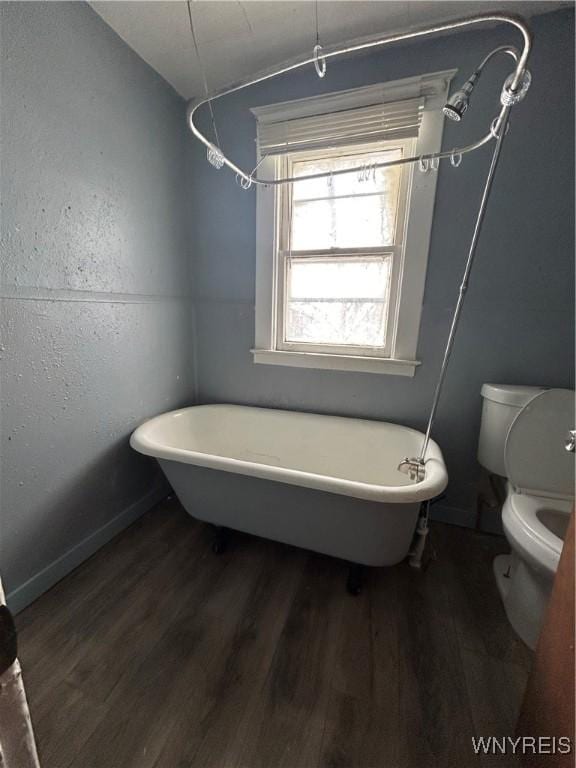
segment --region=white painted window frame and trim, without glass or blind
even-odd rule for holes
[[[439,152],[442,145],[443,115],[450,81],[457,70],[419,75],[366,88],[341,91],[299,101],[258,107],[252,110],[257,120],[278,122],[310,115],[330,114],[379,102],[391,102],[422,96],[425,105],[418,137],[408,140],[414,155]],[[397,143],[404,144],[406,140]],[[307,152],[302,152],[304,157]],[[318,152],[313,153],[318,156]],[[266,158],[259,171],[263,176],[287,175],[289,156]],[[426,280],[426,267],[434,211],[437,172],[420,173],[413,165],[405,169],[402,182],[407,185],[408,206],[402,216],[403,237],[397,247],[378,248],[378,253],[394,253],[394,269],[398,270],[398,286],[392,321],[388,328],[389,344],[370,352],[370,348],[329,349],[326,345],[291,344],[282,339],[282,279],[286,256],[287,195],[283,188],[257,188],[256,202],[256,328],[255,363],[288,365],[303,368],[360,371],[413,376],[418,331]],[[400,212],[399,212],[400,213]],[[400,216],[398,217],[400,219]],[[283,247],[284,246],[284,247]],[[361,249],[364,254],[365,249]],[[300,253],[298,255],[301,255]],[[281,272],[282,271],[282,272]]]

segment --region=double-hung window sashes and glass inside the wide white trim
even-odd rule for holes
[[[290,176],[396,160],[414,142],[297,152],[283,158]],[[283,187],[279,237],[277,349],[390,356],[398,256],[409,171],[379,168]]]

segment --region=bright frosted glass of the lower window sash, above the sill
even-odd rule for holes
[[[391,257],[291,259],[286,341],[384,346]]]

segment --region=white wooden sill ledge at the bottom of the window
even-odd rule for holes
[[[253,349],[255,363],[289,365],[296,368],[317,368],[356,373],[387,373],[392,376],[414,376],[418,360],[395,360],[384,357],[328,355],[318,352],[285,352],[277,349]]]

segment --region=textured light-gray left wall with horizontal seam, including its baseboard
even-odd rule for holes
[[[18,609],[165,491],[193,396],[184,104],[84,3],[1,3],[0,569]]]

